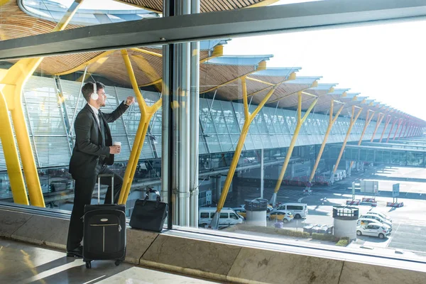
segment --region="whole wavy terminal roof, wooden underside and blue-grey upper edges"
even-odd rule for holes
[[[18,1],[11,0],[1,6],[0,40],[49,33],[56,26],[56,23],[53,21],[36,18],[35,16],[28,15],[28,13],[24,13],[19,8]],[[163,0],[116,1],[155,12],[160,12],[163,9]],[[241,9],[256,5],[267,5],[273,2],[275,0],[201,0],[201,11]],[[102,20],[102,16],[99,17],[102,13],[108,15],[108,17],[111,15],[114,16],[116,21],[126,21],[130,19],[127,17],[129,15],[132,17],[137,15],[153,15],[151,12],[148,13],[140,9],[129,10],[127,12],[85,10],[79,11],[79,13],[80,16],[84,13],[97,13],[98,17],[93,15],[93,18],[97,18],[99,22]],[[104,21],[107,20],[104,18]],[[88,25],[91,23],[84,24]],[[80,26],[70,24],[67,26],[67,29],[77,27]],[[217,97],[224,100],[241,99],[243,96],[241,78],[245,77],[247,95],[250,97],[252,105],[260,103],[274,85],[279,84],[266,104],[273,107],[296,109],[297,94],[300,93],[302,94],[302,110],[310,107],[313,100],[317,98],[318,102],[315,105],[315,112],[317,113],[327,113],[330,102],[334,100],[337,102],[334,107],[334,113],[338,111],[340,105],[344,104],[342,115],[346,115],[348,111],[351,111],[352,106],[356,106],[363,108],[360,116],[362,119],[365,119],[371,111],[376,111],[376,113],[386,115],[392,114],[392,116],[397,118],[421,121],[402,111],[392,109],[386,106],[386,104],[375,102],[367,97],[363,97],[361,94],[351,93],[349,89],[337,88],[336,83],[325,84],[321,82],[321,76],[297,76],[297,71],[301,69],[300,67],[268,68],[267,61],[273,55],[224,56],[223,48],[225,44],[226,40],[209,40],[200,43],[200,93],[202,94],[215,92]],[[131,48],[128,50],[128,53],[138,84],[141,87],[153,85],[159,89],[163,73],[162,47]],[[113,82],[131,86],[120,50],[59,55],[45,58],[38,67],[38,72],[45,75],[66,75],[74,72],[81,73],[86,67],[88,74],[100,75]],[[375,115],[373,120],[377,119],[378,115]]]

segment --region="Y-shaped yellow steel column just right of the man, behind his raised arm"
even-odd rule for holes
[[[119,197],[119,204],[126,204],[127,197],[129,197],[130,187],[133,182],[133,177],[136,172],[136,167],[138,165],[139,156],[141,155],[143,142],[145,141],[146,132],[148,131],[149,121],[151,121],[152,116],[161,107],[163,100],[161,98],[158,99],[158,101],[151,107],[146,104],[145,99],[143,99],[141,91],[139,90],[138,82],[136,82],[136,77],[133,72],[133,67],[131,66],[127,50],[121,50],[121,55],[123,56],[126,69],[131,80],[131,86],[133,87],[136,100],[138,101],[139,109],[141,110],[141,120],[139,121],[138,131],[136,132],[135,140],[133,141],[133,147],[131,148],[131,154],[127,163],[126,172],[124,173],[123,185],[121,187]]]

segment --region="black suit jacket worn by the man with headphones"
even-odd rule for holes
[[[95,173],[99,158],[104,163],[112,165],[114,155],[109,154],[109,146],[112,146],[111,131],[108,123],[114,122],[128,109],[129,106],[121,103],[111,114],[104,114],[99,109],[104,124],[105,146],[102,146],[102,133],[97,124],[94,112],[89,104],[86,104],[75,118],[75,146],[70,160],[70,173],[72,178],[89,178]]]

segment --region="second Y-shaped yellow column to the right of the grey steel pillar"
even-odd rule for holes
[[[283,163],[283,168],[281,168],[280,175],[278,176],[277,184],[275,185],[275,190],[273,192],[273,196],[271,198],[271,203],[275,206],[277,202],[278,191],[280,190],[281,182],[283,182],[283,178],[285,175],[285,170],[287,170],[288,162],[290,161],[291,154],[293,153],[293,148],[295,148],[295,143],[297,141],[297,136],[299,136],[299,131],[302,128],[303,123],[307,119],[307,116],[310,114],[310,111],[314,108],[315,104],[318,102],[318,98],[312,102],[310,107],[307,109],[305,115],[302,116],[302,92],[297,94],[297,124],[295,128],[295,132],[293,133],[293,137],[291,138],[290,146],[288,147],[287,154],[285,155],[285,160]]]

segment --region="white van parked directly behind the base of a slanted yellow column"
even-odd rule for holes
[[[206,226],[212,222],[216,207],[200,207],[198,208],[198,225]],[[223,208],[219,216],[219,226],[231,226],[243,222],[243,217],[231,208]]]

